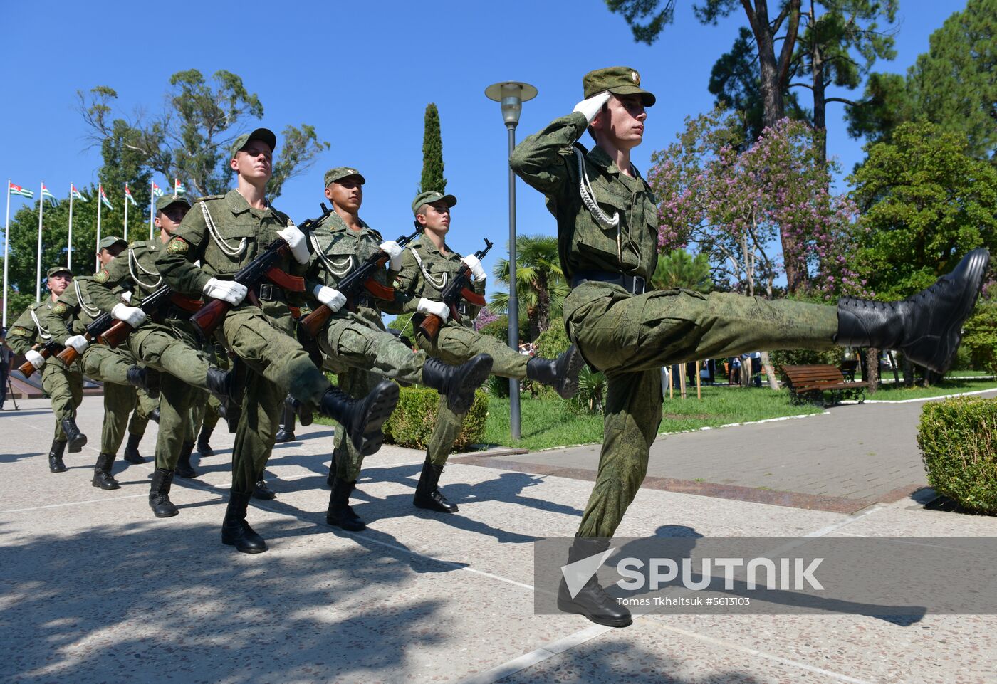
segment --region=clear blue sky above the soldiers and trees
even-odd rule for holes
[[[646,170],[651,153],[674,139],[685,117],[712,107],[710,70],[745,23],[738,12],[719,26],[702,26],[691,5],[678,2],[675,23],[648,47],[634,43],[623,18],[602,0],[247,0],[238,15],[232,6],[204,2],[128,9],[107,2],[15,3],[5,8],[0,38],[7,73],[0,176],[36,192],[44,180],[60,197],[71,181],[96,182],[100,155],[86,149],[78,89],[111,86],[121,114],[155,112],[171,74],[225,69],[259,96],[262,125],[279,132],[287,124],[311,124],[331,143],[315,167],[285,185],[279,208],[297,220],[315,215],[323,172],[355,166],[367,177],[361,216],[395,237],[412,225],[423,113],[435,102],[447,189],[459,199],[449,242],[470,253],[483,245],[483,236],[498,240],[485,264],[491,272],[507,237],[508,181],[505,129],[485,88],[518,80],[538,89],[536,99],[523,105],[521,140],[571,111],[585,72],[612,65],[637,69],[642,85],[658,97],[634,156]],[[931,32],[963,6],[901,0],[897,59],[876,69],[903,73],[927,51]],[[845,170],[862,158],[861,142],[845,133],[840,105],[831,105],[829,152]],[[164,180],[158,178],[161,185]],[[117,194],[120,204],[121,190]],[[22,201],[13,198],[12,211]],[[542,197],[522,182],[517,204],[520,233],[553,234]]]

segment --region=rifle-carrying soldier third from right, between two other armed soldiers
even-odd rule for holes
[[[454,411],[466,412],[475,401],[475,390],[489,377],[492,358],[488,354],[469,355],[458,362],[462,365],[450,366],[426,352],[413,352],[385,330],[381,321],[382,309],[389,313],[402,311],[405,302],[397,296],[389,301],[363,292],[352,302],[355,312],[343,308],[346,298],[336,288],[362,261],[381,252],[390,255],[388,270],[382,269],[375,276],[385,287],[401,268],[399,244],[385,241],[360,218],[365,182],[360,171],[349,167],[325,174],[325,196],[332,201],[334,212],[310,236],[315,255],[306,283],[316,299],[334,311],[319,335],[319,348],[333,365],[346,367],[339,374],[339,387],[350,394],[364,394],[387,376],[432,387],[440,392],[442,403]],[[363,454],[343,440],[337,430],[329,468],[329,524],[352,530],[366,526],[349,505],[362,464]]]

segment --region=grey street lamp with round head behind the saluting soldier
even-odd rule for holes
[[[501,104],[501,118],[508,130],[508,154],[515,149],[515,127],[519,123],[522,103],[536,97],[528,83],[505,81],[485,89],[489,100]],[[515,173],[508,170],[508,346],[519,353],[519,301],[515,294]],[[508,381],[508,422],[512,439],[519,439],[519,381]]]

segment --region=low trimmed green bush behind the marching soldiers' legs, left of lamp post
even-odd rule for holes
[[[400,390],[398,406],[384,424],[385,440],[400,447],[424,450],[436,426],[440,394],[425,387],[402,387]],[[475,394],[474,405],[465,416],[454,451],[466,451],[471,445],[481,444],[488,415],[488,396],[479,391]]]

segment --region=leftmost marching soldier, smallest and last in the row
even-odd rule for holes
[[[46,275],[49,296],[32,304],[14,321],[7,333],[7,344],[15,354],[24,354],[32,366],[42,370],[42,389],[52,398],[52,412],[56,417],[55,439],[49,450],[49,470],[64,473],[63,453],[67,443],[70,454],[82,451],[87,444],[87,436],[76,425],[76,410],[83,401],[83,374],[79,363],[67,366],[55,355],[45,358],[35,350],[35,347],[52,339],[49,311],[73,280],[73,272],[66,266],[53,266]]]

